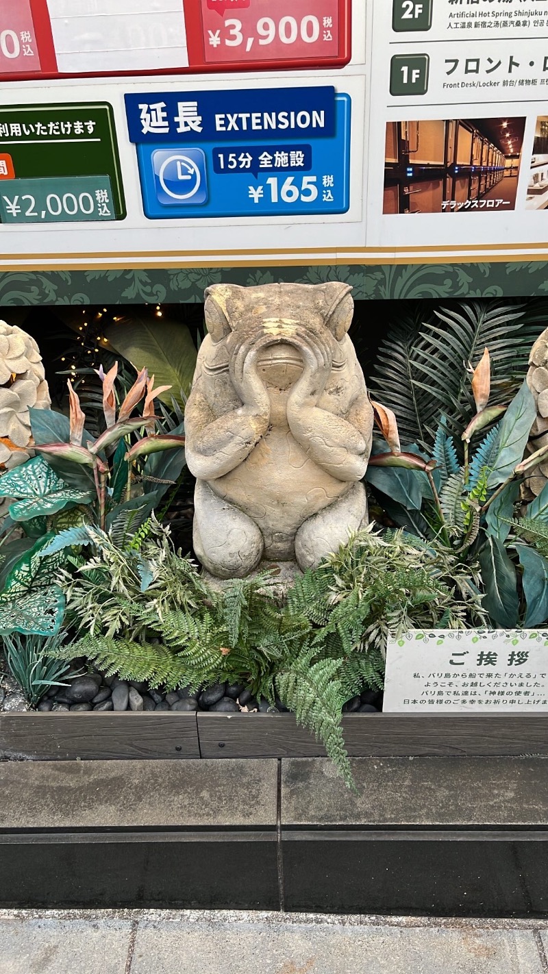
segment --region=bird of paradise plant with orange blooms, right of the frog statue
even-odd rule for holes
[[[516,519],[515,507],[520,485],[546,460],[548,446],[523,459],[536,415],[527,381],[508,406],[490,406],[487,348],[469,371],[476,412],[460,435],[463,463],[445,416],[428,457],[415,444],[402,450],[394,413],[374,402],[384,444],[374,447],[367,479],[398,526],[419,535],[440,556],[457,559],[471,583],[481,582],[493,623],[539,625],[548,618],[548,558],[535,540],[546,533],[548,485],[530,504],[527,518]],[[488,427],[470,454],[473,436]]]

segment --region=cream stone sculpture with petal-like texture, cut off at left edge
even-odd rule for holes
[[[36,342],[17,325],[0,321],[0,472],[28,460],[28,410],[51,404]]]

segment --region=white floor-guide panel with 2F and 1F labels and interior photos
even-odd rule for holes
[[[541,256],[547,28],[544,0],[374,2],[369,247]]]

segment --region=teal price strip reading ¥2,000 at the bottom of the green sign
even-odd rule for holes
[[[115,220],[108,176],[55,176],[0,181],[2,223]]]

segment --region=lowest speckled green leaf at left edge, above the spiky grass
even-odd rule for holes
[[[64,615],[65,598],[58,585],[14,595],[0,593],[0,636],[55,636]]]

